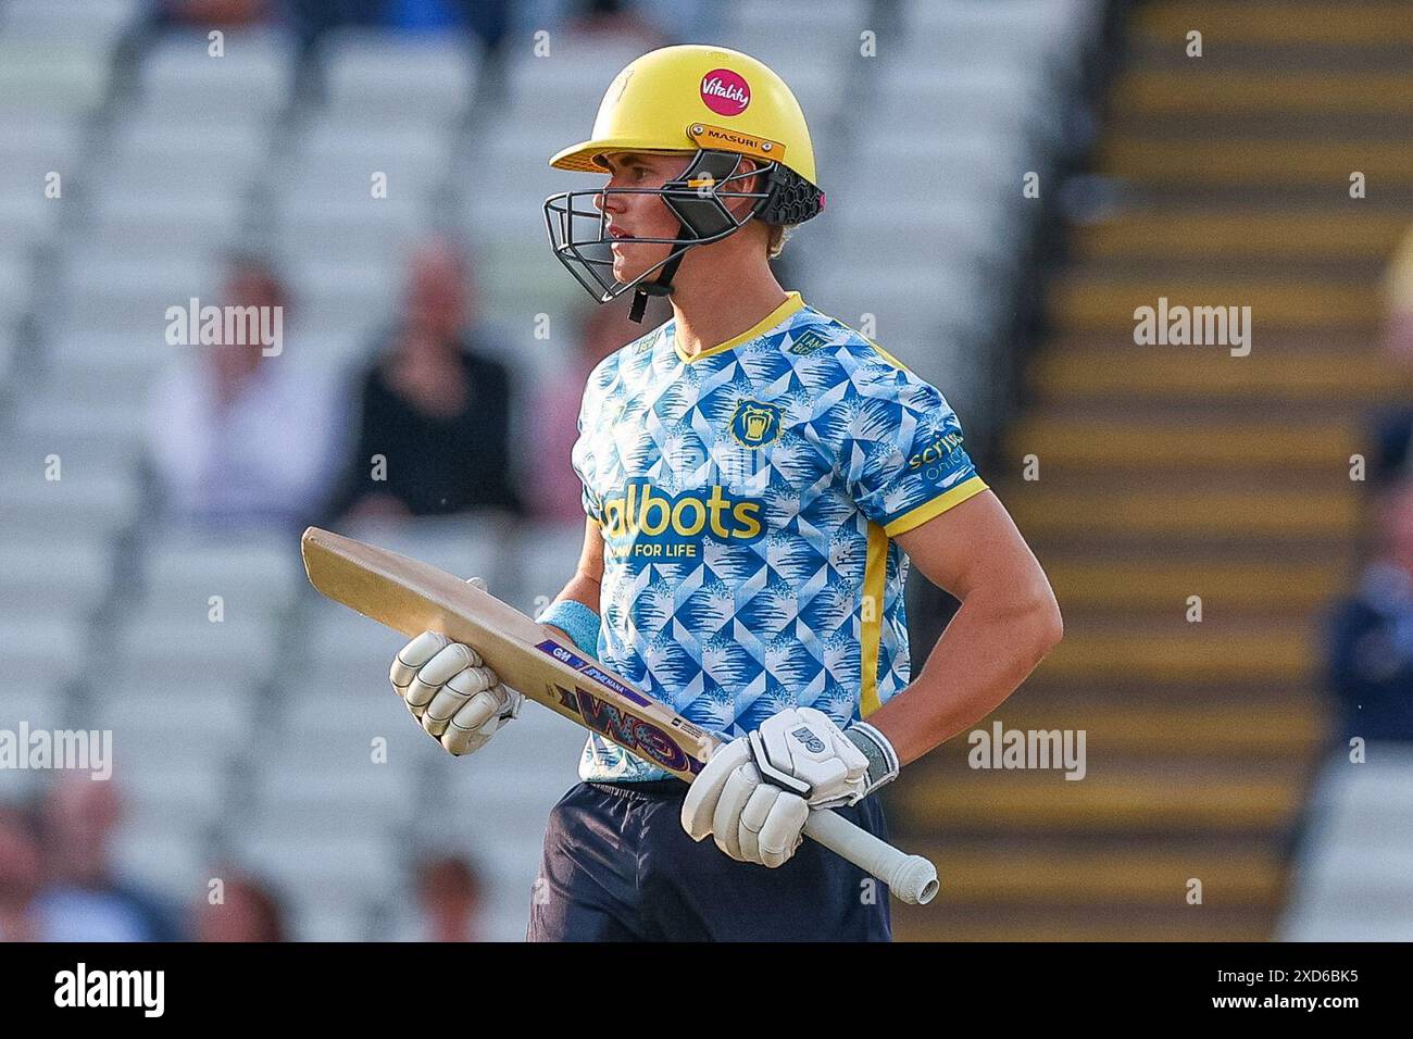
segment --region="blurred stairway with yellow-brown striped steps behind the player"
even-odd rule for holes
[[[1184,55],[1190,30],[1205,57]],[[1413,213],[1413,13],[1153,3],[1129,42],[1095,155],[1121,205],[1070,229],[991,474],[1065,642],[978,728],[1084,729],[1087,775],[972,769],[965,734],[911,768],[890,813],[942,893],[894,903],[900,939],[1270,937],[1324,746],[1351,455],[1368,410],[1410,389],[1376,331]],[[1251,355],[1135,345],[1133,311],[1159,297],[1251,305]]]

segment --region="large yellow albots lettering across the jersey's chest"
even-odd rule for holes
[[[704,498],[691,491],[667,495],[651,481],[634,478],[622,495],[603,500],[603,537],[616,548],[643,543],[695,544],[702,536],[750,543],[764,533],[763,512],[764,502],[735,498],[719,483]],[[651,553],[634,547],[634,554]]]

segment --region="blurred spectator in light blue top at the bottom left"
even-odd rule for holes
[[[45,941],[174,941],[164,906],[120,884],[109,861],[120,806],[113,780],[66,775],[44,803],[45,889],[35,900]]]

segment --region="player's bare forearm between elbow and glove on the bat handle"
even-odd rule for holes
[[[976,588],[917,679],[869,715],[907,765],[991,714],[1060,642],[1048,584],[1026,595]]]

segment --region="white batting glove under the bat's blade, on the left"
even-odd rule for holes
[[[475,649],[437,632],[403,646],[389,679],[422,729],[458,758],[485,746],[524,703]]]

